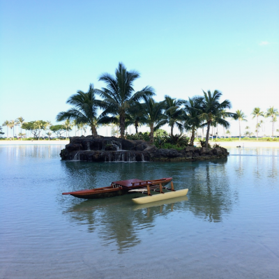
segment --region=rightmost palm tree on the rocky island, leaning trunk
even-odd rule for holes
[[[204,92],[204,91],[203,91]],[[201,109],[199,110],[199,117],[202,121],[206,122],[206,148],[209,146],[209,129],[211,123],[216,121],[225,128],[229,128],[229,122],[223,119],[224,116],[232,117],[234,113],[225,112],[224,110],[231,107],[229,100],[224,100],[222,103],[219,102],[222,93],[215,90],[213,93],[211,91],[204,92],[204,97],[199,98],[201,103]]]

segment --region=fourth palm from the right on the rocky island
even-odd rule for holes
[[[163,114],[165,100],[156,103],[150,96],[143,96],[144,103],[137,103],[142,111],[141,121],[150,128],[149,139],[154,142],[154,132],[167,123],[166,116]]]

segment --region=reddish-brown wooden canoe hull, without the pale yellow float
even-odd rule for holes
[[[166,186],[172,181],[172,177],[156,179],[156,180],[140,180],[128,179],[122,181],[114,181],[108,187],[80,190],[75,192],[62,193],[62,195],[72,195],[81,199],[98,199],[102,197],[115,197],[119,195],[132,194],[130,190],[144,190],[147,186],[158,187],[158,185]]]

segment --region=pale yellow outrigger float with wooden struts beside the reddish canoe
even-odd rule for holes
[[[163,189],[169,190],[169,192],[163,192]],[[188,189],[182,189],[182,190],[174,190],[174,183],[171,182],[171,188],[166,188],[163,187],[161,183],[159,183],[159,186],[149,186],[147,185],[146,188],[141,189],[143,194],[146,194],[145,197],[136,197],[135,199],[132,199],[135,204],[147,204],[149,202],[158,202],[163,199],[172,199],[174,197],[182,197],[187,195]],[[158,192],[160,194],[157,195],[151,195],[151,190]],[[139,190],[130,190],[132,191],[137,191]]]

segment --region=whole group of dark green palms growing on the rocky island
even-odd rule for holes
[[[113,123],[119,126],[121,137],[125,137],[127,126],[133,124],[137,133],[138,126],[145,124],[150,128],[151,142],[154,140],[154,132],[168,124],[171,127],[171,135],[174,126],[181,132],[192,131],[190,144],[193,144],[195,131],[206,127],[207,147],[211,126],[220,124],[228,128],[229,122],[225,118],[235,116],[234,113],[226,111],[231,107],[229,100],[220,103],[222,96],[220,91],[216,90],[213,93],[203,91],[204,96],[195,96],[188,100],[176,100],[165,96],[165,100],[156,102],[151,86],[135,91],[133,83],[139,77],[137,71],[128,71],[123,63],[119,63],[115,76],[109,73],[100,75],[99,81],[105,82],[105,88],[94,89],[93,84],[90,84],[86,93],[77,91],[66,102],[73,107],[66,112],[60,112],[56,116],[56,121],[71,119],[77,124],[86,123],[90,126],[93,136],[98,135],[96,129],[98,125]],[[98,100],[97,95],[102,99]]]

